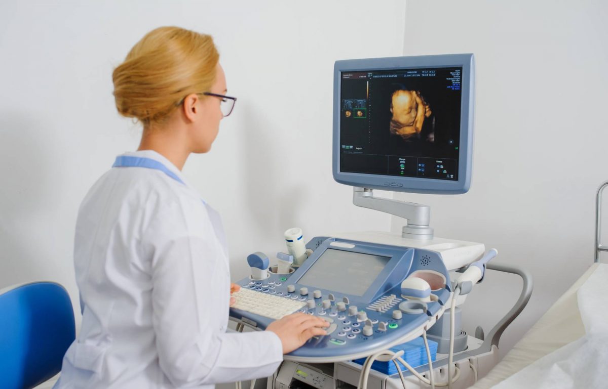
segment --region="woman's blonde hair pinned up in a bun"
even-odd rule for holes
[[[162,123],[185,96],[209,92],[218,61],[210,35],[179,27],[152,30],[112,73],[116,109],[143,126]]]

